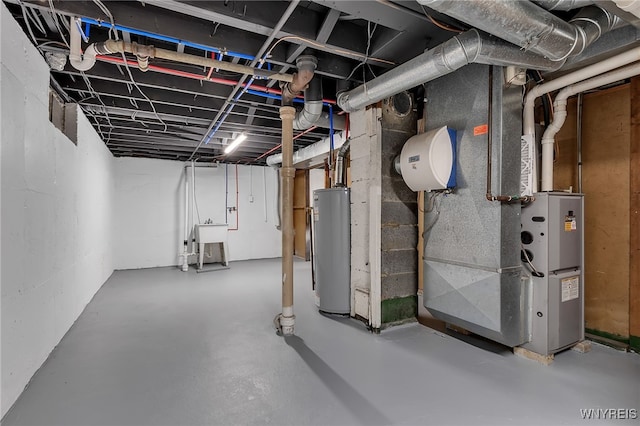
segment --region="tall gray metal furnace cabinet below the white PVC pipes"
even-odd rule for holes
[[[543,192],[522,209],[521,259],[531,279],[531,339],[549,355],[584,339],[582,194]]]

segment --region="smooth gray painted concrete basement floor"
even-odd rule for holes
[[[277,259],[115,272],[2,424],[555,425],[640,408],[637,354],[594,345],[545,367],[417,323],[372,335],[318,313],[305,262],[296,336],[279,337],[279,277]]]

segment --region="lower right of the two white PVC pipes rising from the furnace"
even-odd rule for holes
[[[562,89],[553,102],[554,118],[542,136],[542,191],[553,191],[553,145],[555,135],[560,131],[567,118],[567,99],[570,96],[611,84],[640,74],[640,63],[610,71],[580,83]]]

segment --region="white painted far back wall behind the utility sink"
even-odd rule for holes
[[[179,263],[178,254],[182,252],[184,239],[184,164],[141,158],[115,159],[116,269]],[[230,229],[238,227],[236,231],[229,231],[230,260],[279,257],[282,237],[276,229],[276,171],[269,167],[239,165],[237,168],[238,210],[225,216],[226,180],[227,204],[236,206],[236,166],[196,167],[200,217],[198,220],[196,215],[195,221],[204,223],[211,219],[214,223],[228,223]],[[190,261],[195,262],[195,257]]]

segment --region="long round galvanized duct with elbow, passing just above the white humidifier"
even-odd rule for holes
[[[357,111],[471,63],[514,65],[540,70],[556,70],[562,66],[561,63],[524,52],[510,43],[472,29],[374,78],[366,85],[339,93],[338,106],[346,112]]]

